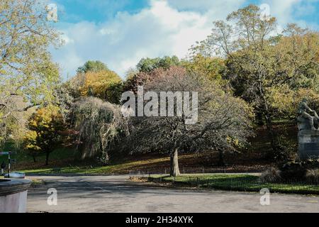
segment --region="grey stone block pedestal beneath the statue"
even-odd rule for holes
[[[319,158],[319,131],[299,131],[298,142],[298,155],[301,159]]]

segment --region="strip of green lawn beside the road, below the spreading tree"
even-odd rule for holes
[[[259,192],[262,188],[270,192],[319,194],[319,184],[289,183],[261,183],[254,175],[182,175],[179,177],[151,175],[152,182],[172,182],[177,186],[224,189],[231,191]]]

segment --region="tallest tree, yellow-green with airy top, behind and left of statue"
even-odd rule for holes
[[[282,35],[273,37],[275,30],[276,18],[262,18],[259,8],[250,5],[230,13],[226,21],[214,22],[213,33],[193,50],[225,57],[225,73],[235,95],[254,106],[259,121],[264,118],[272,150],[278,153],[272,94],[318,79],[318,33],[288,25]]]

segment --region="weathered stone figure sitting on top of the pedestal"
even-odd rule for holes
[[[310,114],[313,114],[311,116]],[[318,128],[318,121],[319,121],[319,116],[318,114],[310,109],[308,106],[308,99],[303,99],[301,103],[298,106],[298,129],[299,131],[301,130],[313,130],[313,131],[319,131]]]

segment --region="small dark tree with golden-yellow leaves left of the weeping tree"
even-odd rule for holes
[[[28,121],[29,131],[24,137],[24,149],[33,156],[45,153],[48,165],[50,153],[63,143],[62,131],[65,130],[60,110],[56,106],[38,109]]]

